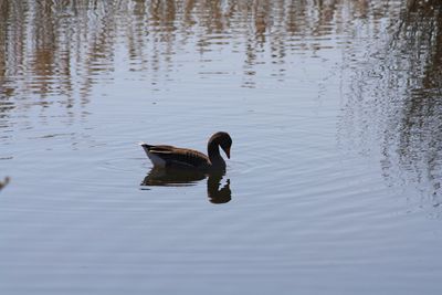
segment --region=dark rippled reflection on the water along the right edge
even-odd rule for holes
[[[361,141],[379,138],[383,177],[389,182],[414,183],[439,207],[442,2],[408,0],[391,28],[388,49],[355,75],[346,125],[358,126]]]

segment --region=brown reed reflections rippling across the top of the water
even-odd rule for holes
[[[203,54],[232,40],[244,52],[253,85],[256,64],[284,64],[291,51],[322,50],[319,36],[341,34],[355,19],[375,22],[390,1],[351,0],[2,0],[0,94],[62,95],[66,107],[86,104],[94,84],[112,80],[122,42],[130,71],[155,84],[176,64],[177,48],[194,42]],[[194,36],[194,39],[192,38]],[[262,53],[266,51],[269,55]],[[269,60],[270,59],[270,60]]]

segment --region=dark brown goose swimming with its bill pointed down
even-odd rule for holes
[[[200,171],[225,171],[225,161],[220,155],[220,147],[230,159],[232,138],[228,133],[218,131],[208,141],[208,156],[203,152],[167,145],[139,144],[154,167],[183,168]]]

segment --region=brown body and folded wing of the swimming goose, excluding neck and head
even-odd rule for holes
[[[194,149],[147,144],[141,146],[156,166],[201,168],[210,165],[209,158]]]

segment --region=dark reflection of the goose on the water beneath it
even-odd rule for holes
[[[200,171],[189,171],[171,168],[152,168],[141,182],[148,187],[186,187],[194,186],[199,181],[208,178],[207,193],[212,203],[227,203],[232,199],[230,190],[230,179],[221,187],[224,173],[203,173]],[[221,189],[220,189],[221,187]]]

